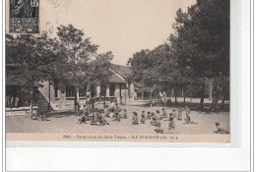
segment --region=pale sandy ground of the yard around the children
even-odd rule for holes
[[[127,109],[128,119],[121,119],[120,122],[107,118],[108,126],[91,126],[90,124],[78,124],[78,119],[74,115],[51,116],[47,121],[36,121],[26,116],[6,117],[7,133],[69,133],[69,134],[155,134],[156,128],[146,124],[132,125],[132,112],[139,114],[142,110],[156,111],[161,107],[123,106]],[[172,108],[165,108],[169,113]],[[183,112],[183,119],[185,113]],[[175,130],[168,129],[168,121],[161,121],[164,134],[215,134],[215,123],[220,122],[221,126],[229,131],[229,113],[205,113],[191,111],[191,119],[198,124],[184,124],[185,121],[175,119]]]

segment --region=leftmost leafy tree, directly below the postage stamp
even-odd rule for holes
[[[48,38],[44,32],[35,37],[32,34],[6,35],[6,63],[13,64],[15,70],[7,70],[9,80],[29,86],[31,91],[31,113],[33,101],[33,87],[48,79],[52,67],[59,60],[59,49],[51,49],[54,40]]]

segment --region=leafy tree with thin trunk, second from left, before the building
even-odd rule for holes
[[[74,106],[77,112],[77,92],[88,84],[95,86],[106,83],[113,56],[111,52],[96,54],[98,46],[89,37],[83,37],[83,30],[75,29],[72,25],[60,26],[57,29],[65,54],[62,56],[62,63],[56,66],[59,72],[57,81],[64,89],[67,85],[74,87]]]

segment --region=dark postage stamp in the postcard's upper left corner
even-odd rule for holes
[[[10,0],[10,32],[38,33],[39,0]]]

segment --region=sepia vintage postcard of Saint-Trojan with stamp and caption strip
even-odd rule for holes
[[[229,9],[6,0],[6,140],[229,143]]]

